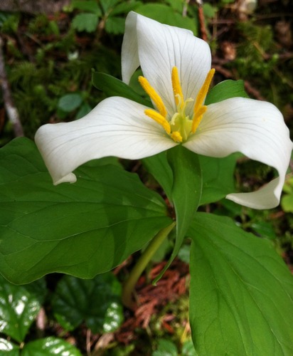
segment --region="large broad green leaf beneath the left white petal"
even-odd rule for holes
[[[137,174],[85,164],[75,184],[53,186],[36,145],[0,150],[0,271],[14,283],[47,273],[92,278],[168,226],[166,205]]]

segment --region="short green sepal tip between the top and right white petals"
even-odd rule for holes
[[[205,105],[236,97],[248,98],[243,80],[224,80],[211,88],[206,97]]]

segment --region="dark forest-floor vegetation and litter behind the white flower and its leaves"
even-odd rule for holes
[[[11,1],[5,11],[0,4],[0,31],[11,104],[18,110],[26,137],[33,139],[47,122],[76,120],[105,98],[92,85],[92,68],[121,77],[124,19],[131,10],[189,28],[206,39],[213,53],[215,83],[245,80],[248,95],[274,103],[293,129],[290,1],[221,0],[198,6],[196,1],[181,0],[55,0],[58,11],[53,13],[48,6],[40,11],[35,1],[26,1],[25,8],[22,3]],[[5,93],[0,93],[1,146],[16,136],[6,104]],[[139,162],[122,164],[159,189]],[[273,174],[270,167],[241,159],[235,180],[238,189],[256,189]],[[291,173],[276,209],[254,211],[231,201],[203,209],[231,216],[247,231],[270,239],[292,268]],[[1,278],[0,352],[37,355],[33,352],[47,345],[40,355],[50,355],[56,347],[62,350],[59,355],[66,351],[69,355],[195,355],[188,328],[188,241],[158,286],[150,283],[164,267],[171,244],[162,246],[140,279],[137,293],[142,305],[135,312],[123,309],[119,295],[139,253],[114,273],[91,281],[53,274],[28,286],[13,286]]]

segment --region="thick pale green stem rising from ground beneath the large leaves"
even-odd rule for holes
[[[142,272],[146,268],[147,264],[149,261],[151,261],[152,256],[154,256],[154,253],[156,253],[164,239],[166,239],[166,237],[170,234],[175,225],[176,222],[174,221],[165,229],[161,229],[161,231],[159,231],[158,234],[154,236],[154,239],[151,240],[149,246],[146,247],[142,253],[142,256],[139,257],[139,260],[137,261],[134,268],[132,268],[127,281],[124,283],[122,292],[122,301],[124,305],[127,306],[127,308],[133,309],[134,302],[132,300],[132,293],[134,292],[134,287],[137,284],[137,281],[142,275]]]

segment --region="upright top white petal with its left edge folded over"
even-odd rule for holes
[[[164,25],[129,13],[122,46],[122,78],[129,82],[137,67],[163,99],[169,113],[176,111],[171,69],[179,70],[184,98],[196,98],[211,69],[208,44],[191,31]]]

